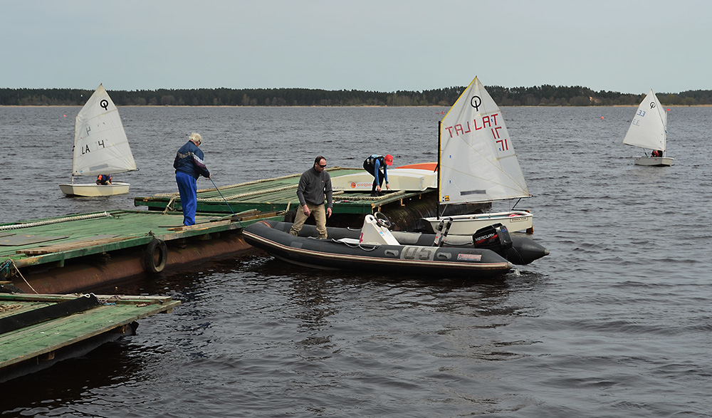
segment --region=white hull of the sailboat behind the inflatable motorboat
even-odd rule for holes
[[[533,214],[528,211],[508,211],[508,212],[493,212],[489,214],[467,214],[446,216],[452,219],[449,235],[472,235],[478,229],[493,224],[503,224],[508,231],[531,231],[533,230]],[[424,220],[430,224],[433,231],[436,231],[442,218],[429,217]]]

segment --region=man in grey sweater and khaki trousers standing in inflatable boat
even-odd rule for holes
[[[294,216],[294,224],[289,230],[292,235],[298,235],[304,222],[314,215],[318,238],[326,239],[326,219],[331,217],[332,201],[331,176],[325,170],[326,159],[321,155],[314,159],[314,167],[302,173],[297,187],[297,197],[300,209]],[[326,195],[327,207],[324,207]]]

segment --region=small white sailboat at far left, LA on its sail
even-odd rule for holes
[[[117,174],[136,170],[129,141],[114,102],[99,85],[79,111],[74,124],[72,182],[60,184],[69,196],[112,196],[129,192],[129,184],[78,184],[75,177]]]

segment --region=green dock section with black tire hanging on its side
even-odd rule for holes
[[[275,212],[198,214],[113,210],[0,225],[0,285],[32,293],[88,291],[112,281],[159,273],[235,254],[249,246],[241,229]]]

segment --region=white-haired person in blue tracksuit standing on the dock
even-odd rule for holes
[[[200,134],[193,132],[190,134],[188,142],[179,148],[176,159],[173,161],[185,226],[195,224],[195,210],[198,207],[198,177],[213,178],[203,162],[203,152],[198,148],[202,143],[203,138]]]

